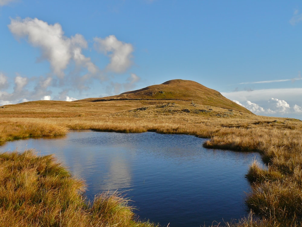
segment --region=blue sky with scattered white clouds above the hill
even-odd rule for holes
[[[0,0],[0,105],[196,81],[302,120],[302,2]]]

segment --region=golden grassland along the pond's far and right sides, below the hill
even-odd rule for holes
[[[302,122],[177,100],[106,102],[38,101],[0,110],[0,140],[65,134],[69,129],[182,133],[209,138],[204,146],[257,151],[268,169],[253,163],[253,192],[246,203],[257,219],[233,226],[300,226],[302,222]],[[5,129],[6,128],[6,129]],[[5,130],[3,130],[5,129]],[[14,129],[14,130],[11,130]],[[225,224],[230,225],[230,224]],[[220,225],[221,226],[221,225]]]

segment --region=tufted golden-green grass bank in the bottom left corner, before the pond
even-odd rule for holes
[[[100,194],[88,204],[84,183],[53,156],[0,154],[0,226],[155,226],[134,220],[127,199]]]

